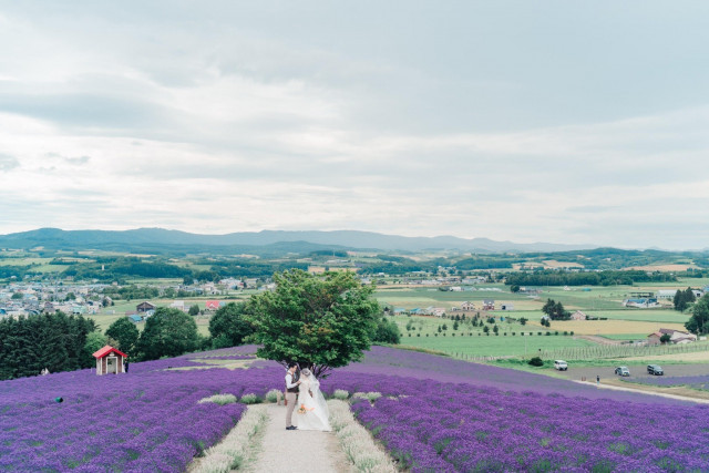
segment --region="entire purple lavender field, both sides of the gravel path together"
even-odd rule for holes
[[[245,409],[199,399],[263,395],[281,388],[284,373],[267,361],[188,368],[204,368],[196,358],[254,351],[134,363],[124,376],[84,370],[0,382],[0,470],[184,471]],[[709,471],[709,409],[680,401],[382,347],[322,387],[384,394],[353,410],[415,472]]]

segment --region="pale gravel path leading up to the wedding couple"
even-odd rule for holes
[[[261,452],[249,472],[343,473],[351,466],[332,432],[286,430],[286,408],[268,404]],[[294,413],[294,417],[297,414]]]

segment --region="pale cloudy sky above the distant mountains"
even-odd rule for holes
[[[709,247],[709,2],[0,0],[0,234]]]

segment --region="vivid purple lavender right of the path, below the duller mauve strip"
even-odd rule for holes
[[[353,405],[404,469],[709,471],[709,409],[427,382]]]

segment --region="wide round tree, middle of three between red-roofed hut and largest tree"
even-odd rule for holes
[[[195,320],[179,309],[160,307],[145,321],[145,329],[137,341],[143,360],[177,357],[199,347]]]

